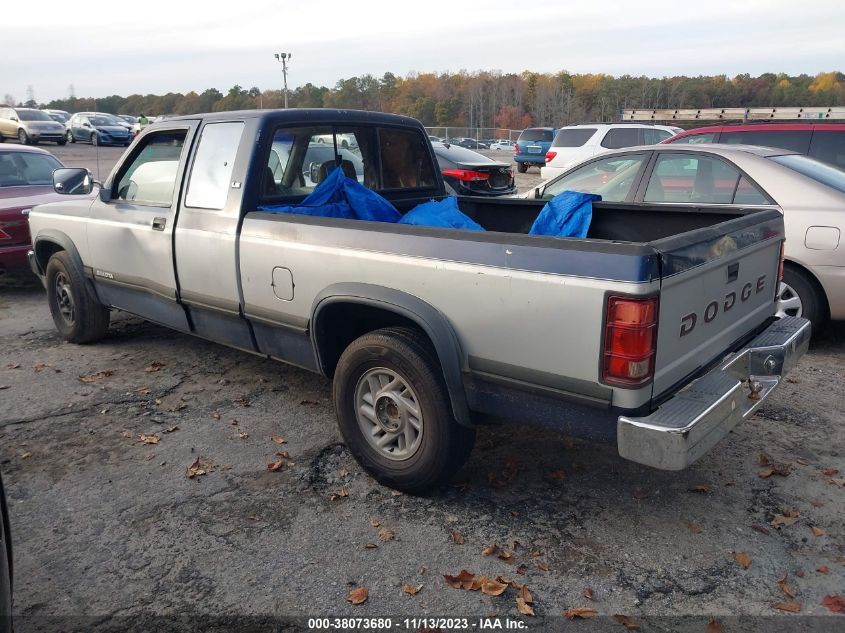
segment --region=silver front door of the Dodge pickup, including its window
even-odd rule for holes
[[[189,330],[177,303],[173,227],[196,121],[146,134],[118,163],[88,222],[90,266],[104,303]]]

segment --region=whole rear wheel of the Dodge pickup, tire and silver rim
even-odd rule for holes
[[[353,341],[338,361],[333,395],[349,450],[391,488],[442,485],[472,450],[475,431],[455,421],[437,357],[418,330],[385,328]]]

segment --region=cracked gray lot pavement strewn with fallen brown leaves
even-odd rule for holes
[[[94,152],[56,149],[69,164]],[[449,487],[412,497],[352,459],[327,380],[122,314],[105,340],[71,345],[40,286],[6,279],[0,469],[19,629],[84,616],[88,629],[153,630],[169,621],[155,616],[189,615],[236,630],[226,618],[246,615],[625,630],[562,617],[589,607],[643,631],[709,631],[711,618],[728,631],[841,631],[845,616],[822,602],[845,593],[843,335],[834,324],[817,336],[759,414],[685,471],[507,425],[480,431]],[[208,472],[189,478],[197,460]],[[773,467],[782,474],[764,476]],[[779,515],[796,520],[778,528]],[[443,575],[462,569],[527,585],[536,617],[519,614],[513,587],[450,587]],[[347,601],[361,587],[368,600]],[[788,603],[800,613],[775,606]]]

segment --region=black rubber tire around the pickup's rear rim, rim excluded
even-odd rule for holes
[[[376,440],[368,440],[362,430],[362,425],[375,428],[378,424],[371,419],[359,421],[356,405],[359,385],[365,384],[365,376],[377,371],[395,373],[410,387],[421,414],[416,449],[406,458],[389,458],[387,450],[373,446],[371,441]],[[418,330],[385,328],[354,340],[338,361],[333,395],[347,447],[358,463],[386,486],[412,494],[429,491],[448,482],[472,451],[475,430],[455,421],[437,356]],[[382,396],[379,401],[385,398],[389,400]],[[372,406],[374,417],[379,415],[376,404]],[[387,435],[384,432],[381,437]]]

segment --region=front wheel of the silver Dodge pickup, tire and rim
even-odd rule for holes
[[[67,251],[54,253],[47,262],[47,301],[56,329],[70,343],[91,343],[109,329],[108,308],[91,295]]]

